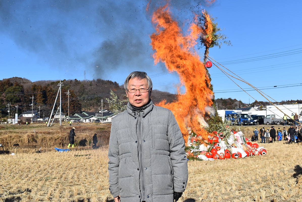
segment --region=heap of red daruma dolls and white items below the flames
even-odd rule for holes
[[[214,131],[208,139],[192,133],[191,128],[188,128],[188,133],[190,136],[185,148],[188,159],[238,159],[266,154],[266,149],[245,138],[242,131],[230,130],[227,136]]]

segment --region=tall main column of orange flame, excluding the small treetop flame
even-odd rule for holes
[[[194,51],[194,45],[198,34],[202,31],[196,25],[191,25],[190,35],[184,36],[176,21],[171,18],[169,8],[166,6],[157,9],[153,13],[152,23],[155,25],[156,33],[151,35],[151,45],[155,63],[165,63],[170,72],[176,71],[186,93],[178,93],[177,101],[158,105],[170,109],[185,141],[188,139],[186,127],[207,138],[208,133],[204,130],[207,122],[204,117],[209,117],[212,103],[213,91],[210,90],[210,79],[200,58]]]

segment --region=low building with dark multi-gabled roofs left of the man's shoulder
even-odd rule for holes
[[[65,121],[71,120],[72,122],[77,122],[82,120],[84,123],[91,123],[95,120],[103,120],[103,123],[105,122],[111,122],[112,117],[114,117],[113,113],[108,110],[103,110],[103,116],[101,112],[83,112],[83,113],[77,113],[73,116],[66,116]]]

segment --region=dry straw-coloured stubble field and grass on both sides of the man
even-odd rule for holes
[[[110,130],[110,126],[101,125],[75,127],[79,129],[76,130],[76,138],[89,138],[95,132],[101,138]],[[98,128],[106,129],[99,131]],[[243,127],[244,134],[252,133],[254,128]],[[67,126],[47,130],[36,128],[34,130],[38,134],[34,137],[40,143],[38,137],[45,139],[46,131],[59,133],[62,130],[62,136],[68,136],[69,129]],[[17,134],[17,130],[13,130],[16,134],[10,133],[9,129],[0,130],[0,143],[4,144],[3,139],[14,135],[26,141],[29,133],[34,133],[32,129],[20,130],[24,130],[25,137]],[[250,138],[250,135],[246,136]],[[265,156],[189,161],[188,186],[179,201],[302,201],[302,182],[299,180],[302,144],[288,145],[284,142],[259,143],[267,149]],[[90,149],[91,146],[77,146],[62,153],[54,147],[42,147],[41,153],[24,149],[13,156],[0,155],[0,202],[113,201],[108,190],[106,145],[94,150]]]

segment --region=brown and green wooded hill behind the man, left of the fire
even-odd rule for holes
[[[34,97],[34,110],[39,111],[40,115],[47,117],[52,108],[59,89],[60,81],[36,81],[31,82],[28,79],[13,77],[0,80],[0,111],[2,115],[8,114],[8,103],[11,104],[11,114],[16,113],[18,105],[18,114],[32,109],[32,97]],[[69,90],[69,113],[74,114],[81,111],[98,111],[101,109],[101,100],[103,100],[103,109],[109,109],[106,98],[110,97],[110,90],[117,94],[120,100],[125,99],[125,90],[123,85],[109,80],[62,80],[61,96],[62,111],[68,111],[68,90]],[[158,103],[162,100],[171,102],[176,95],[169,92],[158,90],[152,91],[152,100]],[[57,101],[59,103],[59,99]],[[57,108],[57,106],[56,106]]]

